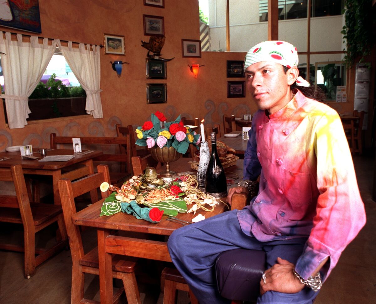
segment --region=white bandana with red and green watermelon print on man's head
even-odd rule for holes
[[[248,51],[244,59],[244,71],[250,65],[260,61],[277,62],[287,68],[297,67],[298,50],[286,41],[263,41]],[[309,82],[299,76],[296,85],[309,87]]]

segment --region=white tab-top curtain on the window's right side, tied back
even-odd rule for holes
[[[85,48],[85,44],[80,43],[78,49],[73,49],[71,41],[68,41],[67,47],[62,46],[60,40],[57,43],[74,76],[86,91],[86,112],[94,118],[102,118],[99,46],[86,44]]]

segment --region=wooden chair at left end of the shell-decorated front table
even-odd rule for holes
[[[97,189],[104,181],[110,182],[108,166],[99,165],[98,173],[74,182],[68,179],[61,179],[58,182],[72,256],[72,304],[97,303],[84,298],[84,282],[85,273],[99,275],[98,247],[85,254],[82,247],[80,228],[72,222],[72,216],[76,213],[74,198],[89,192],[89,190]],[[102,192],[102,198],[109,195],[109,191]],[[134,273],[135,266],[134,258],[126,258],[119,255],[113,257],[112,277],[121,279],[124,284],[124,288],[115,293],[114,302],[119,300],[121,293],[125,290],[128,303],[141,304]]]

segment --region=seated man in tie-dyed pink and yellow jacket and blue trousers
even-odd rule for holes
[[[259,193],[243,210],[179,228],[168,241],[176,268],[202,304],[229,303],[217,292],[213,265],[218,254],[236,248],[266,252],[258,303],[312,303],[311,282],[326,280],[365,224],[341,120],[311,99],[320,94],[298,77],[297,64],[296,48],[284,41],[249,50],[246,85],[259,111],[243,180],[227,201],[260,175]]]

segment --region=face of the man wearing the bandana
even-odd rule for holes
[[[272,61],[261,61],[246,69],[246,85],[259,109],[270,114],[282,109],[291,100],[289,71]]]

